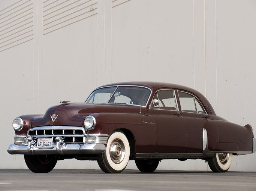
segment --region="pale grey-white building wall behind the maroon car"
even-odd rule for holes
[[[256,132],[255,18],[255,0],[0,1],[0,168],[26,168],[6,151],[15,116],[82,102],[111,82],[195,88],[219,116]],[[255,161],[234,156],[230,170],[256,171]],[[99,168],[73,159],[56,167]],[[202,160],[165,160],[158,169],[209,170]]]

